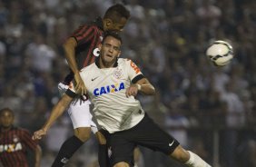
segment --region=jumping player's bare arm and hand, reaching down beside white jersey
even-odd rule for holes
[[[64,43],[64,55],[67,60],[67,63],[71,70],[74,73],[74,89],[76,93],[80,93],[81,95],[86,93],[86,87],[84,82],[79,74],[79,69],[75,61],[75,47],[77,46],[77,42],[74,37],[70,37]]]

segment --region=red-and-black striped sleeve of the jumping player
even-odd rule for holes
[[[95,25],[81,25],[74,31],[71,37],[74,37],[77,44],[84,44],[92,41],[96,35],[97,30]]]

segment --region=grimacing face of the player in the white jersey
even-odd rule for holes
[[[121,54],[120,47],[121,41],[113,36],[107,36],[100,47],[103,64],[107,64],[108,67],[113,66],[116,58]]]

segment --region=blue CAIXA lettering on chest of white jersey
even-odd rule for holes
[[[102,95],[106,93],[115,93],[124,89],[124,83],[113,83],[110,85],[102,86],[94,89],[94,95]]]

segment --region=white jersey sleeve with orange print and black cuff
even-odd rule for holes
[[[143,74],[140,68],[133,63],[132,60],[127,60],[126,62],[127,74],[132,83],[137,83],[137,81],[143,79]]]

